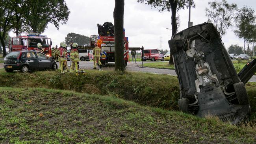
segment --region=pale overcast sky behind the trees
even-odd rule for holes
[[[196,7],[191,9],[191,21],[193,25],[206,22],[205,7],[213,0],[194,0]],[[217,0],[221,1],[221,0]],[[70,9],[67,24],[60,25],[57,30],[53,24],[48,24],[48,29],[43,35],[47,35],[53,41],[53,45],[58,45],[65,40],[68,33],[79,33],[81,35],[98,35],[96,24],[112,22],[115,0],[66,0]],[[247,5],[256,8],[255,0],[227,0],[228,3],[236,3],[238,8]],[[178,11],[180,15],[181,31],[187,28],[188,9]],[[171,12],[158,12],[158,9],[151,9],[150,6],[137,3],[137,0],[125,0],[124,5],[124,28],[125,36],[129,37],[130,47],[144,46],[146,49],[162,48],[169,49],[168,40],[171,39]],[[243,46],[243,41],[238,39],[234,33],[234,28],[229,28],[222,40],[226,48],[231,44]],[[15,36],[14,33],[10,33]],[[78,44],[79,45],[79,44]],[[161,46],[161,47],[160,47]]]

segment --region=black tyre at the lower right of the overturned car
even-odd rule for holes
[[[245,84],[243,82],[239,82],[239,83],[235,83],[233,87],[236,92],[238,103],[240,105],[249,104],[249,99],[245,89]]]

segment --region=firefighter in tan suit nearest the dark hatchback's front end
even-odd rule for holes
[[[60,71],[61,74],[64,74],[65,72],[68,72],[67,68],[67,44],[63,43],[63,46],[61,49],[58,51],[59,59],[60,59]],[[64,70],[65,68],[65,70]]]

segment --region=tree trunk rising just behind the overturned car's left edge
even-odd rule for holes
[[[177,21],[176,21],[176,11],[177,11],[177,6],[178,6],[178,1],[176,0],[169,0],[171,4],[171,11],[172,11],[172,38],[173,35],[177,33]],[[171,49],[170,49],[171,51]],[[173,65],[173,56],[170,55],[170,60],[169,60],[169,65]]]

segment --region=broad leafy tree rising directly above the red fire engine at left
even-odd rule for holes
[[[65,24],[70,13],[65,0],[24,0],[22,10],[26,31],[37,33],[43,33],[48,23],[59,30],[59,23]]]

